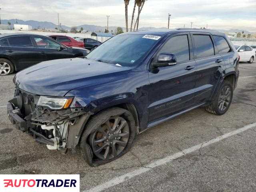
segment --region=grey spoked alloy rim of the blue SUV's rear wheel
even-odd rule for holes
[[[225,111],[231,100],[231,89],[229,86],[224,86],[221,90],[219,100],[218,100],[218,108],[220,111]]]

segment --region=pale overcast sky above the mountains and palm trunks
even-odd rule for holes
[[[130,0],[128,14],[132,14]],[[94,24],[125,26],[123,0],[0,0],[2,19],[49,21],[66,26]],[[136,11],[137,12],[137,11]],[[141,13],[140,27],[204,27],[243,29],[256,32],[256,0],[148,0]],[[130,19],[129,19],[130,22]]]

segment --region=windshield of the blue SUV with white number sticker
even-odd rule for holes
[[[159,38],[160,36],[150,35],[114,36],[90,52],[86,58],[114,65],[134,66],[142,60]]]

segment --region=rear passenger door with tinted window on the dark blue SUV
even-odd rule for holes
[[[217,48],[211,34],[193,32],[194,58],[196,60],[196,103],[205,103],[212,96],[225,63],[221,55],[216,55]]]

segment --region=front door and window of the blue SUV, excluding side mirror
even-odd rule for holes
[[[149,122],[165,118],[194,106],[196,62],[193,60],[189,33],[175,34],[154,56],[176,54],[177,64],[149,71]],[[152,63],[153,63],[152,62]]]

